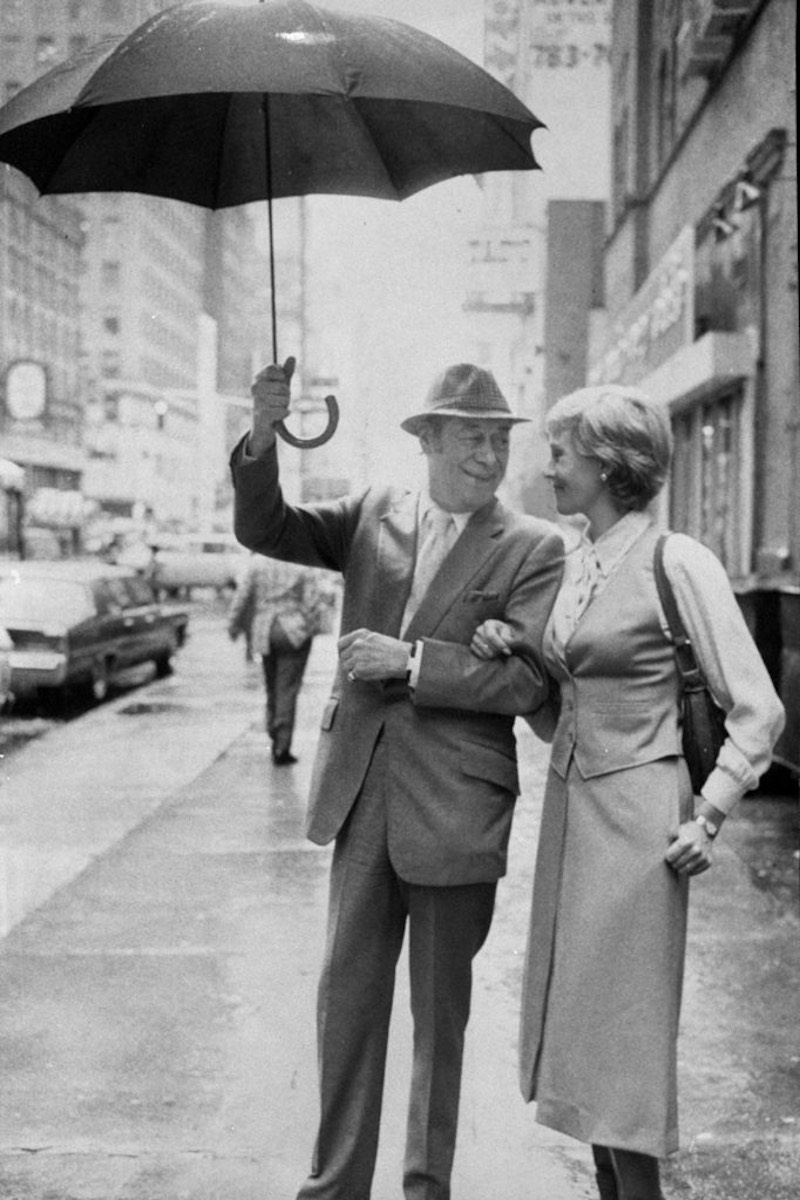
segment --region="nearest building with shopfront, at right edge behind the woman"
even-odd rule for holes
[[[614,5],[589,382],[668,407],[664,516],[724,564],[787,706],[777,762],[799,770],[795,14],[793,0]]]

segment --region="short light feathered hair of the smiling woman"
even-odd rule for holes
[[[579,388],[549,409],[545,430],[569,433],[578,454],[597,458],[624,509],[646,508],[663,487],[673,448],[669,418],[634,388]]]

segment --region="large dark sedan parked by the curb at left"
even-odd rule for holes
[[[0,625],[13,642],[11,690],[83,690],[100,702],[116,672],[152,661],[169,674],[188,611],[160,604],[130,568],[95,562],[0,563]]]

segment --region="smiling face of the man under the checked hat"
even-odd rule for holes
[[[445,416],[420,442],[428,456],[432,498],[451,512],[475,512],[500,486],[509,466],[511,421]]]

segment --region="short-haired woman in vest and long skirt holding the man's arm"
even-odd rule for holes
[[[587,388],[549,410],[547,431],[558,511],[588,527],[545,634],[560,702],[522,1001],[522,1088],[537,1121],[593,1145],[602,1200],[662,1200],[658,1159],[678,1148],[688,880],[711,865],[726,815],[769,766],[783,709],[721,563],[670,534],[667,578],[726,714],[716,766],[693,794],[649,511],[669,467],[668,416],[636,391]],[[474,650],[485,660],[513,644],[513,630],[492,624]]]

